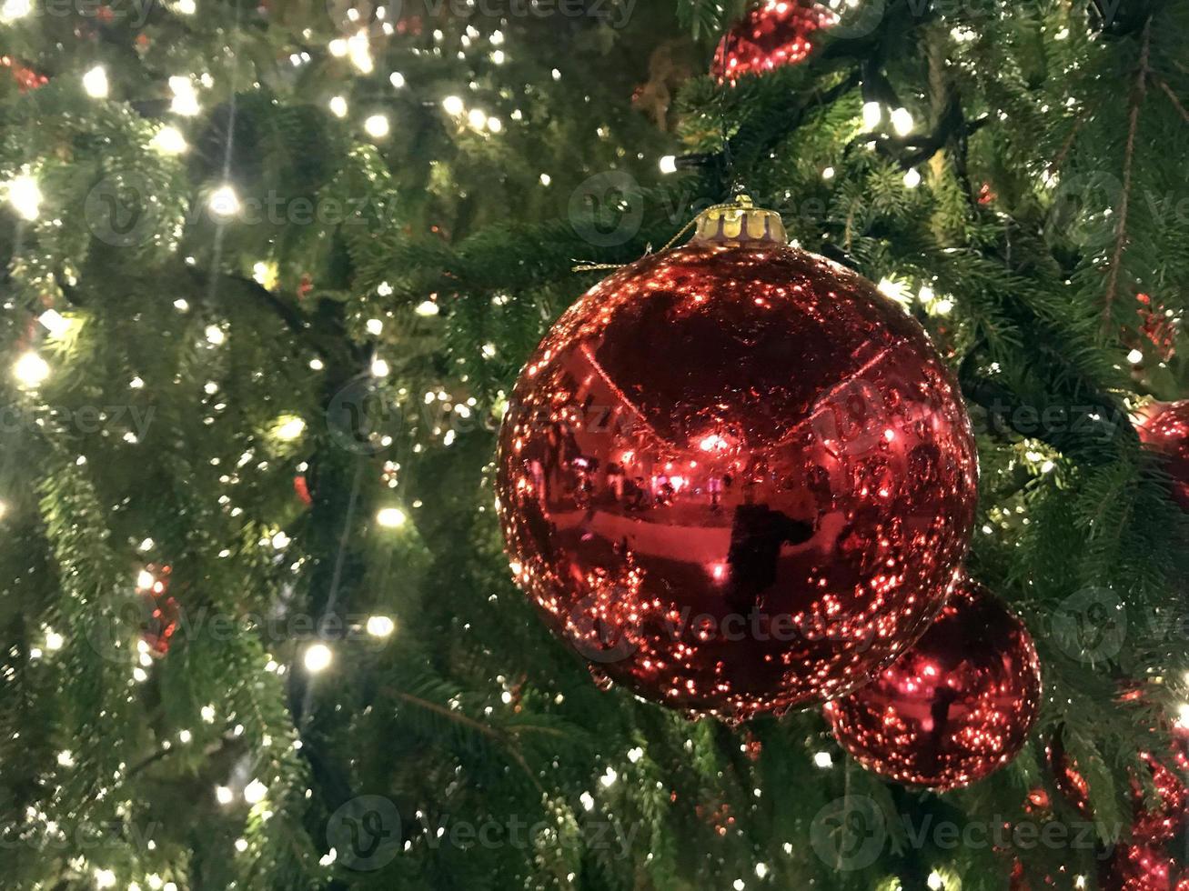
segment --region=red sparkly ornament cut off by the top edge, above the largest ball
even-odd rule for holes
[[[746,74],[794,65],[813,50],[810,34],[837,20],[806,0],[763,0],[723,37],[710,72],[719,83],[734,84]]]

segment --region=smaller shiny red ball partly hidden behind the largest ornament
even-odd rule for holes
[[[873,683],[828,702],[833,735],[864,767],[957,789],[1024,747],[1040,704],[1040,665],[1024,624],[963,581],[940,618]]]

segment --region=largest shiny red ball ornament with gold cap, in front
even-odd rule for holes
[[[546,335],[498,510],[517,582],[603,677],[743,719],[848,693],[929,627],[977,462],[895,303],[747,200],[698,222]]]

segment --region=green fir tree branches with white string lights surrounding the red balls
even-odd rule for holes
[[[805,63],[734,88],[703,71],[740,0],[426,4],[392,33],[346,4],[185,6],[38,8],[0,38],[49,76],[23,90],[0,69],[0,183],[42,198],[26,219],[0,189],[0,342],[51,366],[0,384],[6,886],[919,891],[936,872],[1002,891],[1013,860],[1033,886],[1093,884],[1133,777],[1151,797],[1139,752],[1168,751],[1189,697],[1185,517],[1127,419],[1185,394],[1179,328],[1162,355],[1135,302],[1185,309],[1184,4],[1101,21],[864,0]],[[81,88],[99,64],[107,99]],[[177,76],[194,116],[170,110]],[[662,178],[672,153],[698,163]],[[228,219],[208,206],[225,185]],[[969,789],[881,781],[816,712],[731,728],[602,690],[508,577],[495,431],[603,274],[575,264],[659,249],[732,187],[882,282],[961,379],[969,565],[1045,677],[1028,748]],[[43,333],[46,308],[70,329]],[[378,525],[392,507],[404,525]],[[165,565],[181,613],[153,656],[137,580]],[[317,638],[334,659],[313,674]],[[944,842],[1078,832],[1053,740],[1088,781],[1089,841]],[[375,868],[335,848],[359,796],[400,814]],[[843,864],[829,820],[855,802],[882,846]]]

